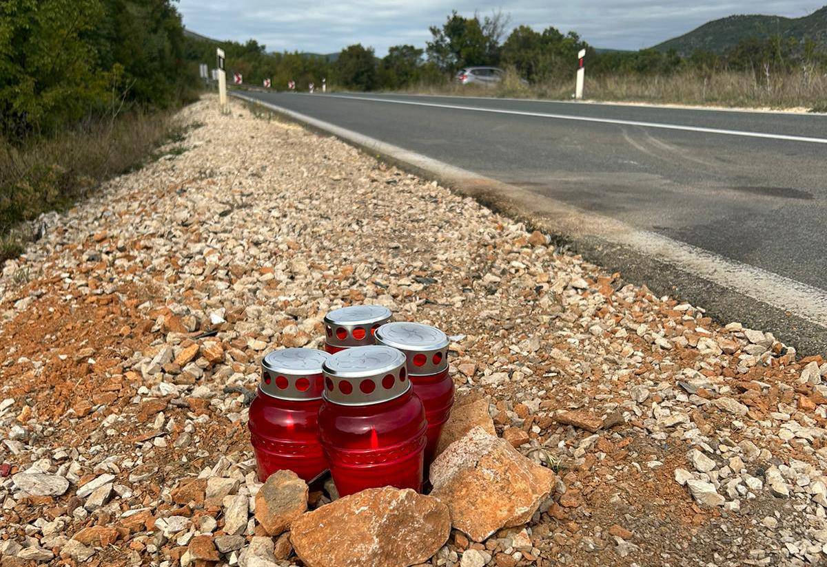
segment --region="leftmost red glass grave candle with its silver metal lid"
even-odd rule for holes
[[[329,356],[311,348],[285,348],[261,361],[261,383],[247,423],[261,482],[276,470],[292,470],[308,482],[327,470],[318,442],[318,409],[322,364]]]

